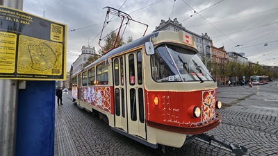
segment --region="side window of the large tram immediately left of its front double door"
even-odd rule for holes
[[[104,62],[97,66],[97,84],[108,84],[108,66]]]

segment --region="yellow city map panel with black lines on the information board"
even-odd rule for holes
[[[63,44],[19,36],[17,73],[60,75],[62,59]]]

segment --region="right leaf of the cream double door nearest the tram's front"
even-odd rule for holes
[[[126,54],[126,105],[129,134],[146,139],[142,54]]]

